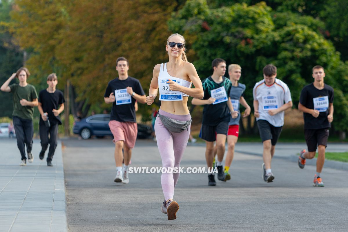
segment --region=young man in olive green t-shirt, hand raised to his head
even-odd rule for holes
[[[33,144],[33,113],[34,106],[38,106],[38,94],[35,87],[29,85],[26,79],[30,73],[27,68],[21,67],[16,73],[13,73],[1,86],[1,91],[11,92],[13,94],[13,125],[15,127],[17,146],[21,152],[21,166],[26,165],[25,146],[28,154],[28,161],[33,162],[31,148]],[[18,78],[19,84],[9,86],[11,80]]]

